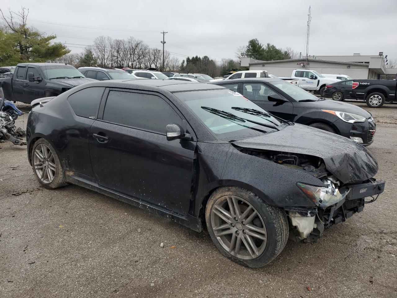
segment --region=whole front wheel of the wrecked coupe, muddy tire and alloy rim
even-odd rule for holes
[[[215,246],[243,266],[270,263],[287,243],[285,213],[243,188],[216,190],[206,205],[205,219]]]

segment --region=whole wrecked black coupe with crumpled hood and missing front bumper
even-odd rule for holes
[[[77,184],[206,225],[220,252],[249,267],[289,236],[315,242],[384,189],[361,145],[216,85],[98,81],[31,105],[28,157],[44,187]]]

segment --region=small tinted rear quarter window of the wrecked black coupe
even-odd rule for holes
[[[89,87],[70,95],[67,100],[77,116],[96,118],[104,87]]]

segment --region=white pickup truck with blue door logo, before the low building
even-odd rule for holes
[[[339,79],[323,77],[315,70],[309,69],[295,69],[292,71],[291,78],[281,77],[281,79],[299,79],[299,87],[304,90],[320,93],[321,96],[323,96],[326,85],[341,81]]]

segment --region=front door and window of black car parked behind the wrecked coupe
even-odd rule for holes
[[[278,116],[284,120],[293,120],[293,104],[290,101],[284,103],[275,103],[268,101],[268,96],[271,94],[279,94],[270,87],[263,83],[242,83],[239,93],[243,94],[244,97],[258,104],[261,108],[264,108],[268,112],[275,116]],[[283,95],[279,94],[281,97]],[[284,97],[283,97],[284,98]]]

